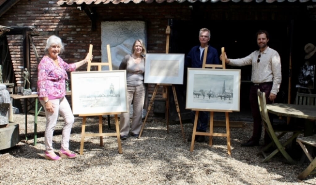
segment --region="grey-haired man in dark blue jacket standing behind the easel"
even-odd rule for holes
[[[207,28],[202,28],[199,32],[199,41],[200,45],[194,46],[190,52],[185,57],[185,67],[192,68],[202,68],[203,58],[204,58],[204,48],[207,49],[206,64],[220,64],[217,50],[211,47],[208,42],[210,41],[210,30]],[[190,83],[188,81],[188,83]],[[197,132],[206,132],[208,125],[208,115],[209,112],[199,111],[198,120],[197,120]],[[191,120],[194,123],[195,111],[191,111]],[[192,137],[188,138],[188,141],[191,141]],[[197,142],[204,142],[204,136],[196,136],[195,140]]]

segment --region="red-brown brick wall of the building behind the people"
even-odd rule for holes
[[[168,19],[175,20],[291,20],[315,19],[315,8],[306,11],[303,3],[128,3],[95,6],[96,30],[87,14],[76,7],[60,7],[57,0],[20,0],[0,17],[0,25],[33,26],[35,31],[58,31],[65,43],[61,57],[68,63],[83,59],[89,44],[94,45],[94,61],[101,60],[100,22],[142,20],[147,22],[148,53],[165,53]],[[92,8],[92,9],[93,9]],[[308,13],[302,13],[308,12]],[[309,14],[307,16],[306,14]],[[223,28],[223,29],[228,29]],[[229,28],[233,29],[235,28]],[[238,28],[236,28],[238,29]],[[185,30],[184,30],[185,31]],[[48,36],[33,36],[40,58]],[[17,86],[23,86],[22,36],[7,36]],[[185,38],[184,38],[185,39]],[[31,47],[30,47],[31,48]],[[31,48],[31,87],[36,88],[37,61]],[[82,67],[79,70],[86,70]],[[150,85],[150,92],[154,85]],[[158,92],[157,98],[161,97]],[[151,114],[152,115],[152,114]]]

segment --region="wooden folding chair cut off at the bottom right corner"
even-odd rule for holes
[[[297,138],[296,139],[296,142],[300,144],[300,146],[302,147],[304,153],[306,154],[308,160],[311,162],[307,168],[302,171],[300,173],[300,175],[298,175],[297,178],[303,180],[305,179],[308,175],[312,175],[312,174],[316,174],[316,170],[315,170],[315,167],[316,167],[316,157],[312,158],[311,154],[309,153],[307,147],[305,145],[310,145],[310,146],[313,146],[313,147],[316,147],[316,136],[313,135],[313,136],[307,136],[307,137],[301,137],[301,138]]]

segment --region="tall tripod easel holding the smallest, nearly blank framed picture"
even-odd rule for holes
[[[170,26],[167,26],[166,29],[166,34],[167,34],[167,40],[166,40],[166,53],[169,53],[169,36],[170,36]],[[162,90],[162,98],[166,99],[166,118],[167,118],[167,133],[169,133],[169,93],[168,93],[168,87],[171,86],[172,87],[172,92],[173,92],[173,98],[174,98],[174,104],[176,106],[177,109],[177,113],[179,116],[179,121],[180,121],[180,126],[181,126],[181,132],[182,132],[182,136],[183,136],[183,140],[185,141],[185,135],[184,135],[184,131],[183,131],[183,126],[182,126],[182,121],[181,121],[181,116],[180,116],[180,109],[179,109],[179,103],[178,103],[178,98],[177,98],[177,94],[176,94],[176,89],[174,87],[173,84],[156,84],[155,85],[155,89],[154,89],[154,93],[150,99],[149,105],[148,105],[148,109],[147,109],[147,113],[146,113],[146,117],[144,119],[143,122],[143,126],[142,129],[139,132],[139,137],[141,137],[149,111],[151,109],[152,104],[154,103],[154,99],[158,90],[159,86],[163,86],[163,90]]]

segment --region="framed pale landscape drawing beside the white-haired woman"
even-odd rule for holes
[[[74,115],[109,115],[127,112],[126,70],[71,73]]]

